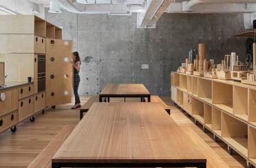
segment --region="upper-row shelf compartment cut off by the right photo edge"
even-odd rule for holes
[[[249,121],[256,125],[256,90],[249,89]]]

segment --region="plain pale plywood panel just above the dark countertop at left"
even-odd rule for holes
[[[28,82],[28,77],[34,77],[34,53],[0,54],[0,60],[5,62],[7,82]]]

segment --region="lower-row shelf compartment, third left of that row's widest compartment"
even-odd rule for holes
[[[192,99],[192,114],[198,121],[204,123],[204,102]]]

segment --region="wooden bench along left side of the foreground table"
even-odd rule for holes
[[[58,148],[64,143],[67,139],[67,136],[70,135],[74,126],[65,125],[54,139],[43,149],[43,151],[36,156],[36,158],[28,165],[28,168],[47,168],[52,167],[52,157],[57,152]]]

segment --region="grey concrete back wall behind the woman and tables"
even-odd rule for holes
[[[208,58],[221,60],[236,51],[245,56],[243,14],[164,14],[156,29],[137,29],[136,14],[49,14],[63,26],[63,37],[74,40],[83,59],[81,95],[95,95],[108,83],[143,83],[158,95],[170,94],[170,72],[175,71],[198,43],[207,44]],[[141,69],[149,64],[149,69]]]

